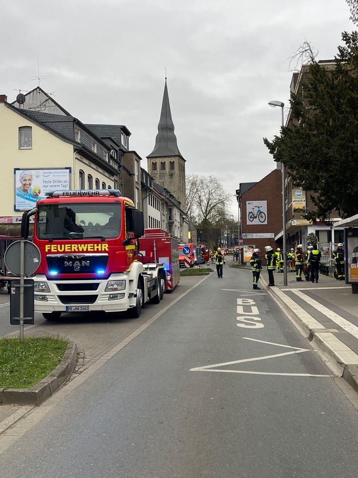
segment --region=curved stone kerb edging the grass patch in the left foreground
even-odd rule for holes
[[[52,372],[31,388],[0,389],[0,405],[40,405],[71,377],[77,361],[77,345],[69,342],[67,350]]]

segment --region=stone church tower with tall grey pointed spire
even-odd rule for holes
[[[185,159],[178,149],[171,119],[168,89],[164,86],[163,102],[153,151],[147,156],[148,172],[154,181],[168,189],[182,203],[185,199]]]

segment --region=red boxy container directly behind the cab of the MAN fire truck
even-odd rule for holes
[[[139,239],[139,257],[146,270],[153,264],[163,264],[166,273],[166,284],[162,291],[172,291],[180,281],[178,241],[170,237],[163,229],[146,229]]]

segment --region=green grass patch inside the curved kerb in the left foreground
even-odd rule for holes
[[[68,341],[53,337],[0,339],[0,388],[30,388],[61,362]]]

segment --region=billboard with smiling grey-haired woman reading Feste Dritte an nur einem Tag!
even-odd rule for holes
[[[14,210],[32,209],[38,199],[54,189],[70,189],[71,168],[14,168]]]

